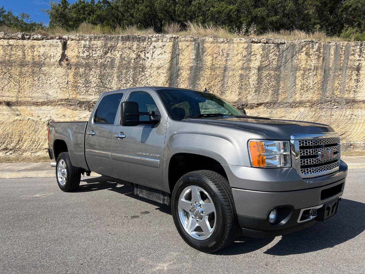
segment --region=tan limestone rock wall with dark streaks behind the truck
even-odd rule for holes
[[[47,123],[87,121],[99,95],[161,85],[222,96],[249,115],[314,121],[365,150],[365,43],[173,35],[0,33],[0,155],[42,155]]]

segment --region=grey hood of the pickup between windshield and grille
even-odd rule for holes
[[[265,134],[268,139],[290,140],[292,134],[334,132],[328,125],[303,121],[270,119],[264,117],[242,118],[191,118],[190,122],[234,126]]]

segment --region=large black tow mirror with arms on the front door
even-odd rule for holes
[[[143,124],[157,124],[160,122],[160,115],[156,115],[154,111],[139,112],[137,102],[122,102],[120,107],[120,124],[122,126],[137,126],[140,123]],[[148,115],[149,121],[139,121],[139,116]]]

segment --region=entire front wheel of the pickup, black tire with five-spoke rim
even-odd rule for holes
[[[189,246],[207,253],[231,244],[238,233],[232,191],[226,178],[210,171],[185,174],[172,193],[172,216]]]

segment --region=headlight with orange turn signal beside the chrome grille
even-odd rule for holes
[[[253,167],[290,167],[289,141],[250,140]]]

